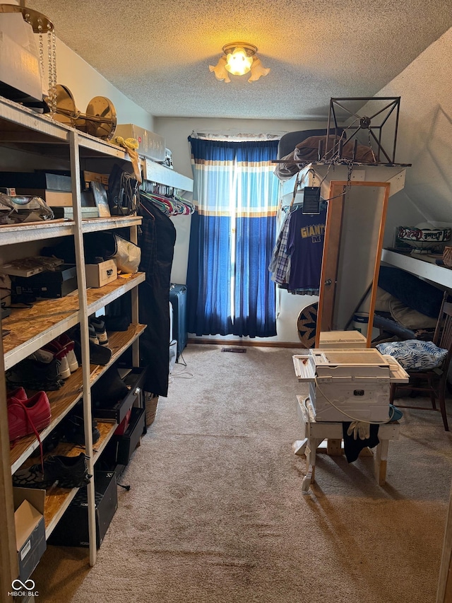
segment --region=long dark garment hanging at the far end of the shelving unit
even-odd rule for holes
[[[176,229],[150,201],[140,197],[143,216],[140,271],[146,280],[139,290],[139,319],[147,324],[140,337],[141,365],[148,367],[144,390],[166,396],[169,376],[169,286]]]

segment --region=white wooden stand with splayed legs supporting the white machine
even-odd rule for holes
[[[302,482],[302,493],[309,491],[309,486],[314,484],[314,474],[316,469],[316,452],[324,440],[326,440],[326,452],[331,456],[340,456],[343,454],[343,426],[342,423],[319,421],[314,418],[314,406],[311,399],[303,396],[297,396],[297,412],[300,423],[302,424],[302,440],[297,440],[292,448],[296,455],[306,455],[306,476]],[[379,486],[386,482],[386,465],[388,462],[388,444],[389,440],[398,440],[400,424],[397,421],[384,423],[379,426],[379,445],[375,452],[364,448],[360,456],[374,457],[374,472]]]

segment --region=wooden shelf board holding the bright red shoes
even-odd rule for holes
[[[112,359],[109,364],[105,366],[95,364],[90,365],[92,385],[108,370],[112,363],[117,361],[117,358],[133,344],[133,341],[138,339],[145,328],[144,324],[131,324],[127,331],[117,331],[109,334],[108,347],[112,350]],[[30,394],[31,392],[28,393]],[[72,373],[71,377],[64,382],[61,389],[54,392],[47,392],[47,396],[49,397],[50,407],[52,409],[52,421],[48,427],[40,432],[41,440],[47,438],[47,435],[57,427],[58,423],[83,396],[83,375],[81,368],[78,368],[75,373]],[[38,446],[39,443],[34,434],[16,440],[10,450],[11,474],[16,472],[17,469],[24,464],[33,450],[36,450]]]

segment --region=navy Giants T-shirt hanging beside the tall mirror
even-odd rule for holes
[[[318,214],[302,213],[301,208],[292,211],[287,239],[290,290],[319,289],[325,221],[326,209]]]

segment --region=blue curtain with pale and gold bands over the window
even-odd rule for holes
[[[275,243],[278,141],[189,137],[194,172],[188,329],[196,335],[276,334]]]

